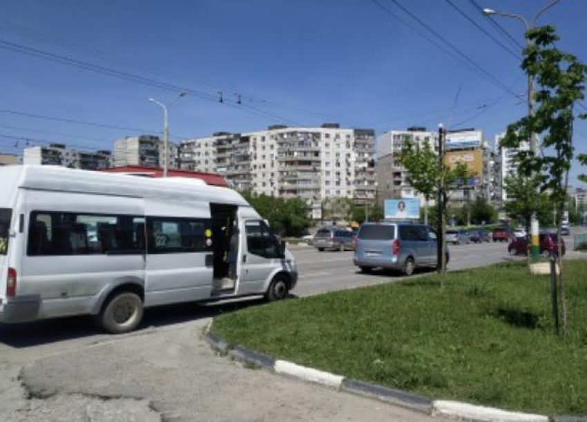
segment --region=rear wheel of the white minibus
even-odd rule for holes
[[[96,322],[111,334],[131,332],[143,318],[143,302],[133,292],[120,292],[110,298],[96,316]]]

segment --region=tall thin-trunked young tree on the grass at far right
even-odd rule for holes
[[[541,154],[533,151],[519,154],[521,174],[529,177],[537,174],[541,191],[550,192],[550,199],[557,208],[558,236],[560,239],[561,216],[564,212],[568,173],[574,157],[572,144],[575,122],[575,103],[584,99],[584,83],[587,67],[573,54],[562,52],[555,46],[559,37],[552,26],[532,28],[526,32],[528,46],[524,49],[522,69],[538,84],[535,94],[537,110],[508,126],[502,145],[519,147],[531,134],[543,134]],[[584,114],[579,117],[585,118]],[[559,290],[562,310],[562,332],[566,333],[566,298],[564,271],[559,241],[557,261],[559,265]]]

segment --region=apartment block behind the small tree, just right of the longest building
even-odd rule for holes
[[[385,199],[414,198],[423,195],[417,192],[407,181],[407,172],[398,162],[399,155],[407,143],[414,148],[423,148],[429,145],[436,154],[439,150],[438,133],[431,132],[419,126],[406,130],[390,130],[378,139],[377,145],[377,193],[380,205]]]

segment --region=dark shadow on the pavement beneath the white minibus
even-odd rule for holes
[[[291,297],[296,299],[294,295]],[[148,308],[145,310],[143,321],[136,332],[152,327],[197,321],[264,303],[266,302],[263,299],[240,299],[224,303],[176,303]],[[10,345],[13,348],[29,348],[91,336],[109,336],[109,334],[97,328],[89,316],[70,316],[20,324],[0,324],[0,343]]]

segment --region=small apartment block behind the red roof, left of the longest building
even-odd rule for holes
[[[164,142],[160,137],[153,135],[140,135],[138,137],[126,137],[114,142],[114,165],[142,165],[145,167],[163,167],[165,157]],[[168,150],[169,168],[179,168],[177,159],[177,146],[169,142]]]

